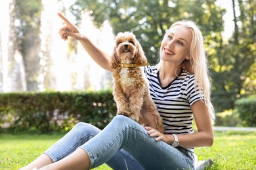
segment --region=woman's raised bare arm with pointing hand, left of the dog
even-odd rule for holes
[[[58,31],[60,37],[65,41],[68,39],[68,37],[72,37],[73,39],[79,41],[83,48],[85,48],[85,50],[91,56],[91,58],[93,58],[93,60],[95,60],[95,62],[98,63],[100,67],[112,72],[112,68],[110,67],[111,56],[98,48],[98,46],[96,46],[90,39],[88,39],[88,37],[81,35],[81,33],[79,33],[79,29],[74,24],[72,24],[68,18],[60,14],[60,12],[58,12],[58,16],[60,16],[60,18],[65,22],[65,25]]]

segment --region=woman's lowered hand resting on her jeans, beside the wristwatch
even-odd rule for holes
[[[148,135],[150,135],[150,137],[156,137],[156,141],[163,141],[167,144],[171,144],[174,141],[173,135],[165,135],[163,133],[160,133],[156,129],[148,126],[145,126],[144,128],[148,131]]]

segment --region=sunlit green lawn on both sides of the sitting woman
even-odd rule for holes
[[[35,160],[63,134],[0,135],[0,169],[18,169]],[[256,132],[215,132],[211,147],[196,148],[199,160],[211,158],[210,169],[256,169]],[[95,170],[110,169],[104,164]]]

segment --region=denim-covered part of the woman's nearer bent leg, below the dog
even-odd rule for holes
[[[144,169],[193,169],[190,152],[173,148],[163,141],[156,142],[144,127],[126,116],[116,116],[103,131],[83,144],[91,168],[110,160],[116,152],[127,150]],[[184,154],[183,154],[184,152]]]

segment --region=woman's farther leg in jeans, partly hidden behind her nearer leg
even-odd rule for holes
[[[100,129],[92,126],[91,124],[78,123],[70,132],[62,137],[62,139],[57,141],[55,144],[53,144],[53,146],[39,156],[39,158],[22,169],[33,169],[33,167],[40,168],[45,165],[49,165],[50,163],[62,160],[62,158],[72,154],[72,152],[74,152],[78,146],[86,143],[95,137],[95,135],[99,132]],[[81,151],[82,152],[79,152],[79,154],[85,154],[83,150]],[[139,163],[137,163],[137,161],[123,149],[119,150],[119,152],[117,152],[116,155],[113,156],[112,159],[107,163],[113,169],[127,169],[127,164],[129,165],[128,167],[142,169]]]

